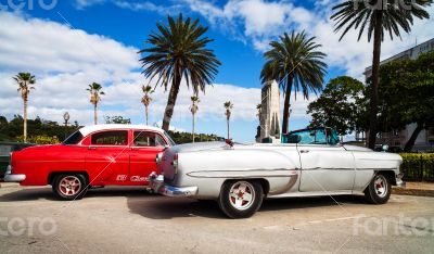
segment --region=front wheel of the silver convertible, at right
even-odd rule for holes
[[[372,204],[385,204],[391,198],[392,186],[383,174],[375,175],[367,189],[365,190],[365,198]]]

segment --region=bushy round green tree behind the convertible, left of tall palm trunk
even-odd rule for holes
[[[333,127],[341,136],[354,130],[358,126],[360,105],[365,86],[357,79],[348,76],[333,78],[327,84],[321,96],[308,105],[307,114],[311,114],[310,125]]]

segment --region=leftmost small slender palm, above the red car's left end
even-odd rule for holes
[[[35,87],[31,85],[35,85],[36,78],[34,75],[29,73],[18,73],[15,77],[16,84],[18,85],[17,91],[21,92],[21,98],[23,99],[23,136],[24,136],[24,142],[27,142],[27,102],[28,102],[28,94],[30,93],[30,90],[34,90]]]

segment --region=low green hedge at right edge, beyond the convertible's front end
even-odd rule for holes
[[[434,153],[400,153],[404,180],[434,181]]]

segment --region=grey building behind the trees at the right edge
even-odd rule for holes
[[[434,38],[384,60],[380,62],[380,65],[392,62],[394,60],[404,60],[404,59],[414,60],[418,59],[418,56],[422,53],[429,53],[433,51],[434,51]],[[365,78],[368,79],[371,76],[372,76],[372,66],[367,67],[365,69]],[[406,128],[403,130],[379,134],[379,139],[376,142],[381,144],[388,144],[390,147],[404,148],[404,145],[409,140],[414,129],[416,129],[416,124],[410,124],[407,125]],[[434,126],[426,130],[422,130],[419,134],[413,147],[414,151],[425,151],[433,149],[434,149]]]

